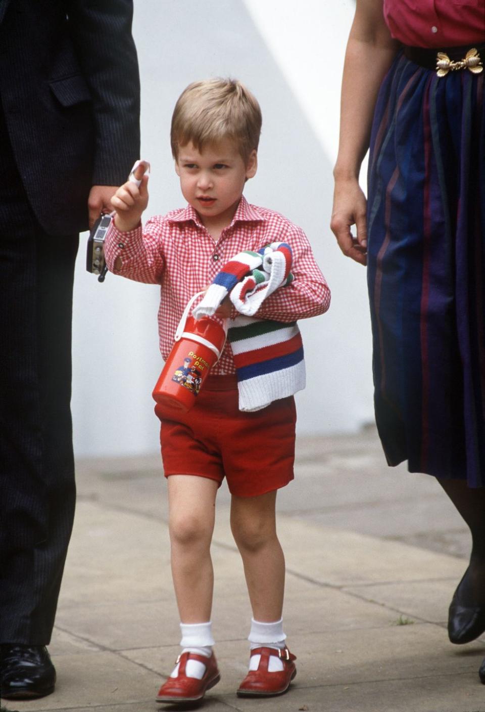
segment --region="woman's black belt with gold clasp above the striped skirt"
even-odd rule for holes
[[[473,74],[480,74],[484,70],[485,44],[443,49],[405,47],[404,54],[407,59],[419,64],[420,67],[437,70],[437,75],[440,77],[460,69],[468,69]]]

